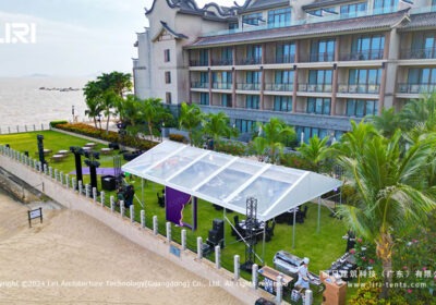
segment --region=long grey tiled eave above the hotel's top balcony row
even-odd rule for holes
[[[264,30],[251,30],[227,35],[199,37],[187,48],[206,47],[214,45],[244,44],[247,41],[272,40],[280,38],[292,38],[299,36],[328,35],[340,32],[360,32],[364,29],[390,28],[399,24],[405,16],[407,11],[390,14],[363,16],[348,20],[338,20],[319,23],[308,23],[280,28]]]

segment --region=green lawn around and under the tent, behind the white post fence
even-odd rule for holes
[[[69,149],[70,146],[84,146],[89,141],[83,139],[80,137],[74,137],[70,135],[64,135],[61,133],[45,131],[45,132],[32,132],[32,133],[23,133],[23,134],[10,134],[10,135],[0,135],[0,144],[10,144],[11,148],[20,151],[27,150],[29,156],[33,158],[37,158],[37,141],[36,135],[44,135],[44,147],[50,148],[53,152],[61,149]],[[101,147],[106,147],[105,145],[98,144],[96,150],[99,150]],[[117,151],[111,155],[101,156],[99,159],[100,167],[113,167],[113,156]],[[47,157],[49,160],[50,157]],[[122,163],[125,161],[122,160]],[[64,173],[69,173],[75,170],[74,166],[74,157],[72,154],[69,155],[64,160],[59,162],[50,162],[51,167],[57,168],[59,171],[63,171]],[[83,167],[86,167],[83,164]],[[72,175],[73,176],[73,175]],[[157,216],[159,219],[159,232],[165,235],[166,231],[166,220],[165,220],[165,209],[159,207],[157,203],[156,193],[160,193],[164,188],[162,185],[158,185],[153,182],[145,182],[144,190],[142,188],[142,180],[140,178],[129,178],[128,182],[132,183],[135,187],[136,197],[142,200],[144,198],[144,209],[146,211],[146,224],[148,228],[152,227],[153,216]],[[89,175],[84,175],[84,183],[89,182]],[[98,180],[100,184],[100,180]],[[99,186],[100,188],[100,186]],[[114,192],[106,192],[106,202],[109,205],[109,196],[114,195]],[[140,211],[143,209],[138,200],[134,200],[135,203],[135,218],[140,221]],[[318,206],[313,203],[307,203],[307,218],[304,223],[296,223],[295,228],[295,247],[292,248],[292,225],[288,224],[276,224],[275,235],[272,240],[266,243],[265,246],[265,265],[272,266],[272,257],[276,252],[280,249],[284,249],[289,253],[292,253],[300,257],[310,257],[310,270],[318,273],[319,270],[328,269],[330,264],[336,260],[339,256],[341,256],[346,249],[346,242],[341,239],[342,235],[347,232],[347,228],[343,223],[336,219],[329,217],[330,211],[322,207],[320,209],[320,228],[319,232],[317,231],[317,218],[318,218]],[[235,212],[227,212],[227,217],[233,221],[233,216]],[[185,222],[191,222],[191,206],[186,207],[184,212]],[[195,251],[196,248],[196,237],[202,236],[205,241],[208,236],[208,230],[211,229],[211,222],[215,218],[223,217],[223,212],[218,211],[214,208],[214,206],[209,203],[206,203],[202,199],[198,200],[198,228],[197,230],[191,231],[187,230],[187,246],[189,248]],[[243,219],[244,216],[240,216],[240,219]],[[240,255],[241,264],[244,263],[245,257],[245,247],[241,242],[237,242],[234,236],[231,236],[231,228],[229,223],[226,223],[226,247],[222,249],[222,266],[229,270],[233,269],[233,256],[235,254]],[[181,228],[177,225],[172,225],[172,239],[175,242],[180,243],[180,232]],[[258,243],[256,246],[256,253],[262,257],[263,246],[262,243]],[[210,255],[209,259],[214,260],[215,256]],[[256,261],[259,264],[259,261]],[[251,279],[251,274],[247,272],[241,271],[241,276]],[[319,300],[319,295],[317,300]],[[316,303],[315,303],[316,304]]]

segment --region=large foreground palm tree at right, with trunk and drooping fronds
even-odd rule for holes
[[[364,136],[362,131],[368,134]],[[356,134],[353,134],[356,133]],[[434,188],[422,179],[435,137],[401,151],[401,132],[390,139],[373,134],[372,129],[355,129],[350,139],[361,138],[359,145],[339,157],[356,196],[351,205],[341,205],[339,215],[360,236],[373,241],[384,268],[384,281],[390,283],[392,248],[396,237],[408,229],[422,224],[427,213],[436,208]],[[347,145],[347,143],[344,145]],[[342,150],[342,151],[347,151]],[[388,297],[389,286],[384,284],[382,297]]]

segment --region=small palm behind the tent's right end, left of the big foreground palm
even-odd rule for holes
[[[303,143],[296,150],[302,159],[306,160],[313,170],[319,172],[322,163],[330,156],[330,148],[327,145],[328,137],[320,139],[316,135],[311,137],[308,145]]]

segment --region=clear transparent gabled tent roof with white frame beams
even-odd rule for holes
[[[269,220],[336,190],[342,182],[165,141],[122,167],[124,172],[160,183],[226,209],[245,213],[257,198],[257,218]]]

